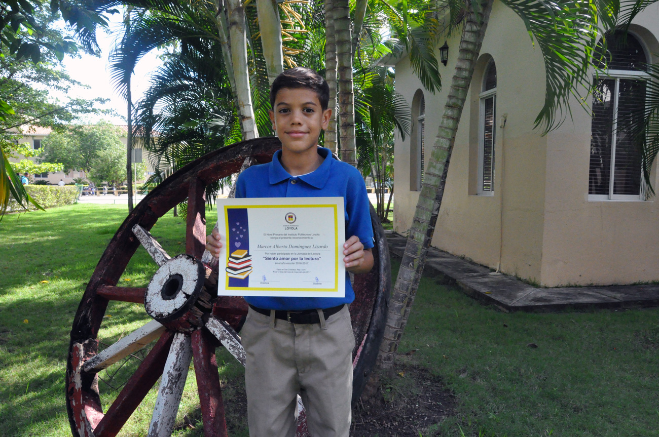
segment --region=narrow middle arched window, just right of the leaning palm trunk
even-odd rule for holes
[[[496,65],[490,61],[485,68],[480,100],[478,122],[478,194],[494,193],[494,145],[496,128]]]

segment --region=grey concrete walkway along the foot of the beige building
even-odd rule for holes
[[[407,238],[387,232],[387,240],[391,254],[403,257]],[[659,284],[537,288],[434,247],[428,252],[425,271],[448,278],[467,295],[492,303],[503,311],[659,305]]]

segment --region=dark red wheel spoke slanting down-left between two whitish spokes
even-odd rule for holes
[[[137,371],[130,376],[117,399],[110,405],[107,413],[94,429],[96,437],[115,436],[121,430],[132,412],[140,405],[144,396],[156,384],[156,381],[163,373],[167,352],[173,338],[174,333],[171,331],[165,331],[160,336],[156,346],[146,355]]]

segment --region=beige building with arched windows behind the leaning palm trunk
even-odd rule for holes
[[[432,245],[542,286],[659,280],[659,203],[646,195],[627,131],[612,129],[614,113],[645,104],[649,78],[638,65],[659,61],[659,5],[648,7],[630,32],[627,45],[610,44],[612,68],[598,82],[594,116],[575,100],[573,120],[541,136],[533,128],[545,93],[540,49],[522,20],[495,2]],[[459,34],[447,41],[444,84],[458,41]],[[411,138],[395,143],[393,227],[405,233],[448,86],[435,95],[424,90],[407,56],[395,61],[395,72],[414,120]],[[651,180],[659,193],[656,163]]]

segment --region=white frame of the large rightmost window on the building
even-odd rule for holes
[[[588,193],[588,201],[645,201],[647,198],[647,186],[643,178],[643,169],[639,173],[639,179],[641,179],[641,189],[639,194],[614,194],[614,176],[616,175],[616,136],[617,136],[617,110],[618,110],[618,95],[619,95],[619,84],[620,79],[631,79],[631,80],[645,80],[649,82],[651,77],[645,71],[638,70],[607,70],[606,74],[594,78],[598,79],[613,79],[616,81],[616,87],[614,89],[614,115],[612,123],[612,135],[611,135],[611,168],[610,168],[610,177],[609,177],[609,193],[608,194],[590,194]],[[646,99],[647,102],[647,92],[646,90]],[[590,128],[592,133],[592,127]],[[590,163],[590,153],[588,154],[588,162]],[[590,174],[590,167],[588,168],[588,173]],[[588,176],[590,177],[590,176]]]

